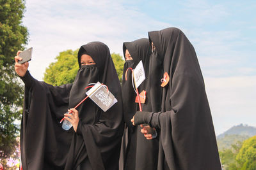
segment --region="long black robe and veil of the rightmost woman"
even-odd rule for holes
[[[148,32],[170,76],[161,111],[148,114],[160,129],[157,169],[221,169],[211,111],[195,50],[177,28]],[[136,118],[145,114],[136,114]],[[140,122],[141,123],[141,122]]]

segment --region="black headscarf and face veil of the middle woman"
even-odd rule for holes
[[[132,60],[125,60],[124,71],[123,71],[123,80],[122,80],[122,99],[124,104],[124,121],[125,124],[131,128],[133,125],[131,123],[131,118],[134,116],[134,113],[137,111],[138,103],[135,103],[136,92],[132,87],[132,76],[131,69],[127,71],[129,67],[135,69],[140,60],[142,60],[146,78],[148,77],[148,66],[149,66],[149,57],[151,55],[150,45],[147,38],[137,39],[132,42],[124,42],[123,52],[125,56],[125,50],[128,50],[131,54]],[[127,71],[127,80],[125,80],[125,73]],[[139,92],[145,90],[146,80],[141,83],[139,86]],[[135,87],[134,87],[135,88]],[[129,109],[127,109],[129,108]]]

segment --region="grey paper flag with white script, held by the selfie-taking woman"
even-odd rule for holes
[[[88,90],[86,95],[105,112],[117,102],[115,96],[100,82]]]

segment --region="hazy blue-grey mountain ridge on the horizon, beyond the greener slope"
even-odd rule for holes
[[[223,138],[225,137],[225,135],[228,135],[228,134],[239,134],[242,136],[252,137],[256,135],[256,127],[243,125],[243,124],[235,125],[230,129],[228,129],[226,132],[223,132],[222,134],[218,135],[217,139]]]

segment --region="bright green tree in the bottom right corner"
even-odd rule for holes
[[[246,139],[236,156],[238,169],[256,169],[256,136]]]

